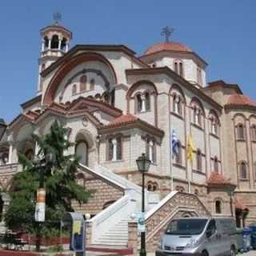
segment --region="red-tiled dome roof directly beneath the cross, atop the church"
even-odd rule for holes
[[[162,50],[171,50],[171,51],[179,51],[179,52],[182,51],[182,52],[189,52],[189,53],[192,52],[192,50],[189,47],[183,45],[180,42],[158,42],[158,43],[155,43],[153,46],[150,46],[146,50],[144,55],[154,54]]]

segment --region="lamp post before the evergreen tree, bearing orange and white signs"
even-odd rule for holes
[[[54,165],[56,160],[55,154],[46,154],[45,158],[35,156],[33,160],[34,166],[38,168],[39,174],[39,187],[37,191],[37,203],[35,208],[34,218],[38,222],[38,232],[36,238],[36,250],[40,250],[41,243],[41,229],[42,222],[45,222],[45,211],[46,211],[46,190],[44,189],[44,173],[46,168],[50,168]]]

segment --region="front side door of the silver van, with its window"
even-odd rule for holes
[[[210,256],[221,255],[218,247],[218,236],[216,222],[211,219],[206,228],[206,245],[204,246]]]

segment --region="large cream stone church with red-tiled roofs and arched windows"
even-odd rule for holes
[[[152,250],[174,217],[233,216],[256,221],[256,102],[237,84],[207,82],[208,64],[189,46],[170,40],[138,56],[124,45],[76,45],[54,22],[40,30],[35,97],[18,117],[0,119],[0,186],[32,158],[32,134],[55,120],[69,130],[70,154],[80,157],[78,183],[94,195],[74,209],[89,213],[88,244],[138,248],[136,213],[146,173],[146,243]],[[32,82],[32,81],[31,81]],[[175,152],[172,140],[175,137]],[[187,158],[188,145],[192,157]],[[8,194],[2,192],[3,212]]]

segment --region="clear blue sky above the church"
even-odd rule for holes
[[[256,99],[256,1],[254,0],[2,0],[0,3],[0,117],[10,122],[19,104],[37,90],[39,29],[62,13],[76,44],[125,44],[138,55],[162,41],[190,46],[209,63],[207,80],[238,83]]]

